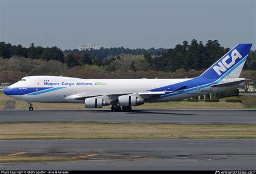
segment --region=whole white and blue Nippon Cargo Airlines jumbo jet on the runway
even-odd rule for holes
[[[6,95],[32,102],[85,103],[85,108],[112,105],[113,112],[131,112],[146,102],[166,102],[240,88],[239,78],[252,44],[238,44],[196,78],[79,79],[64,76],[26,76],[4,89]]]

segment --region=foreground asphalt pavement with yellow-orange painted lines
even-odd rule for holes
[[[0,144],[0,155],[80,158],[0,163],[0,170],[256,170],[255,139],[1,140]]]

